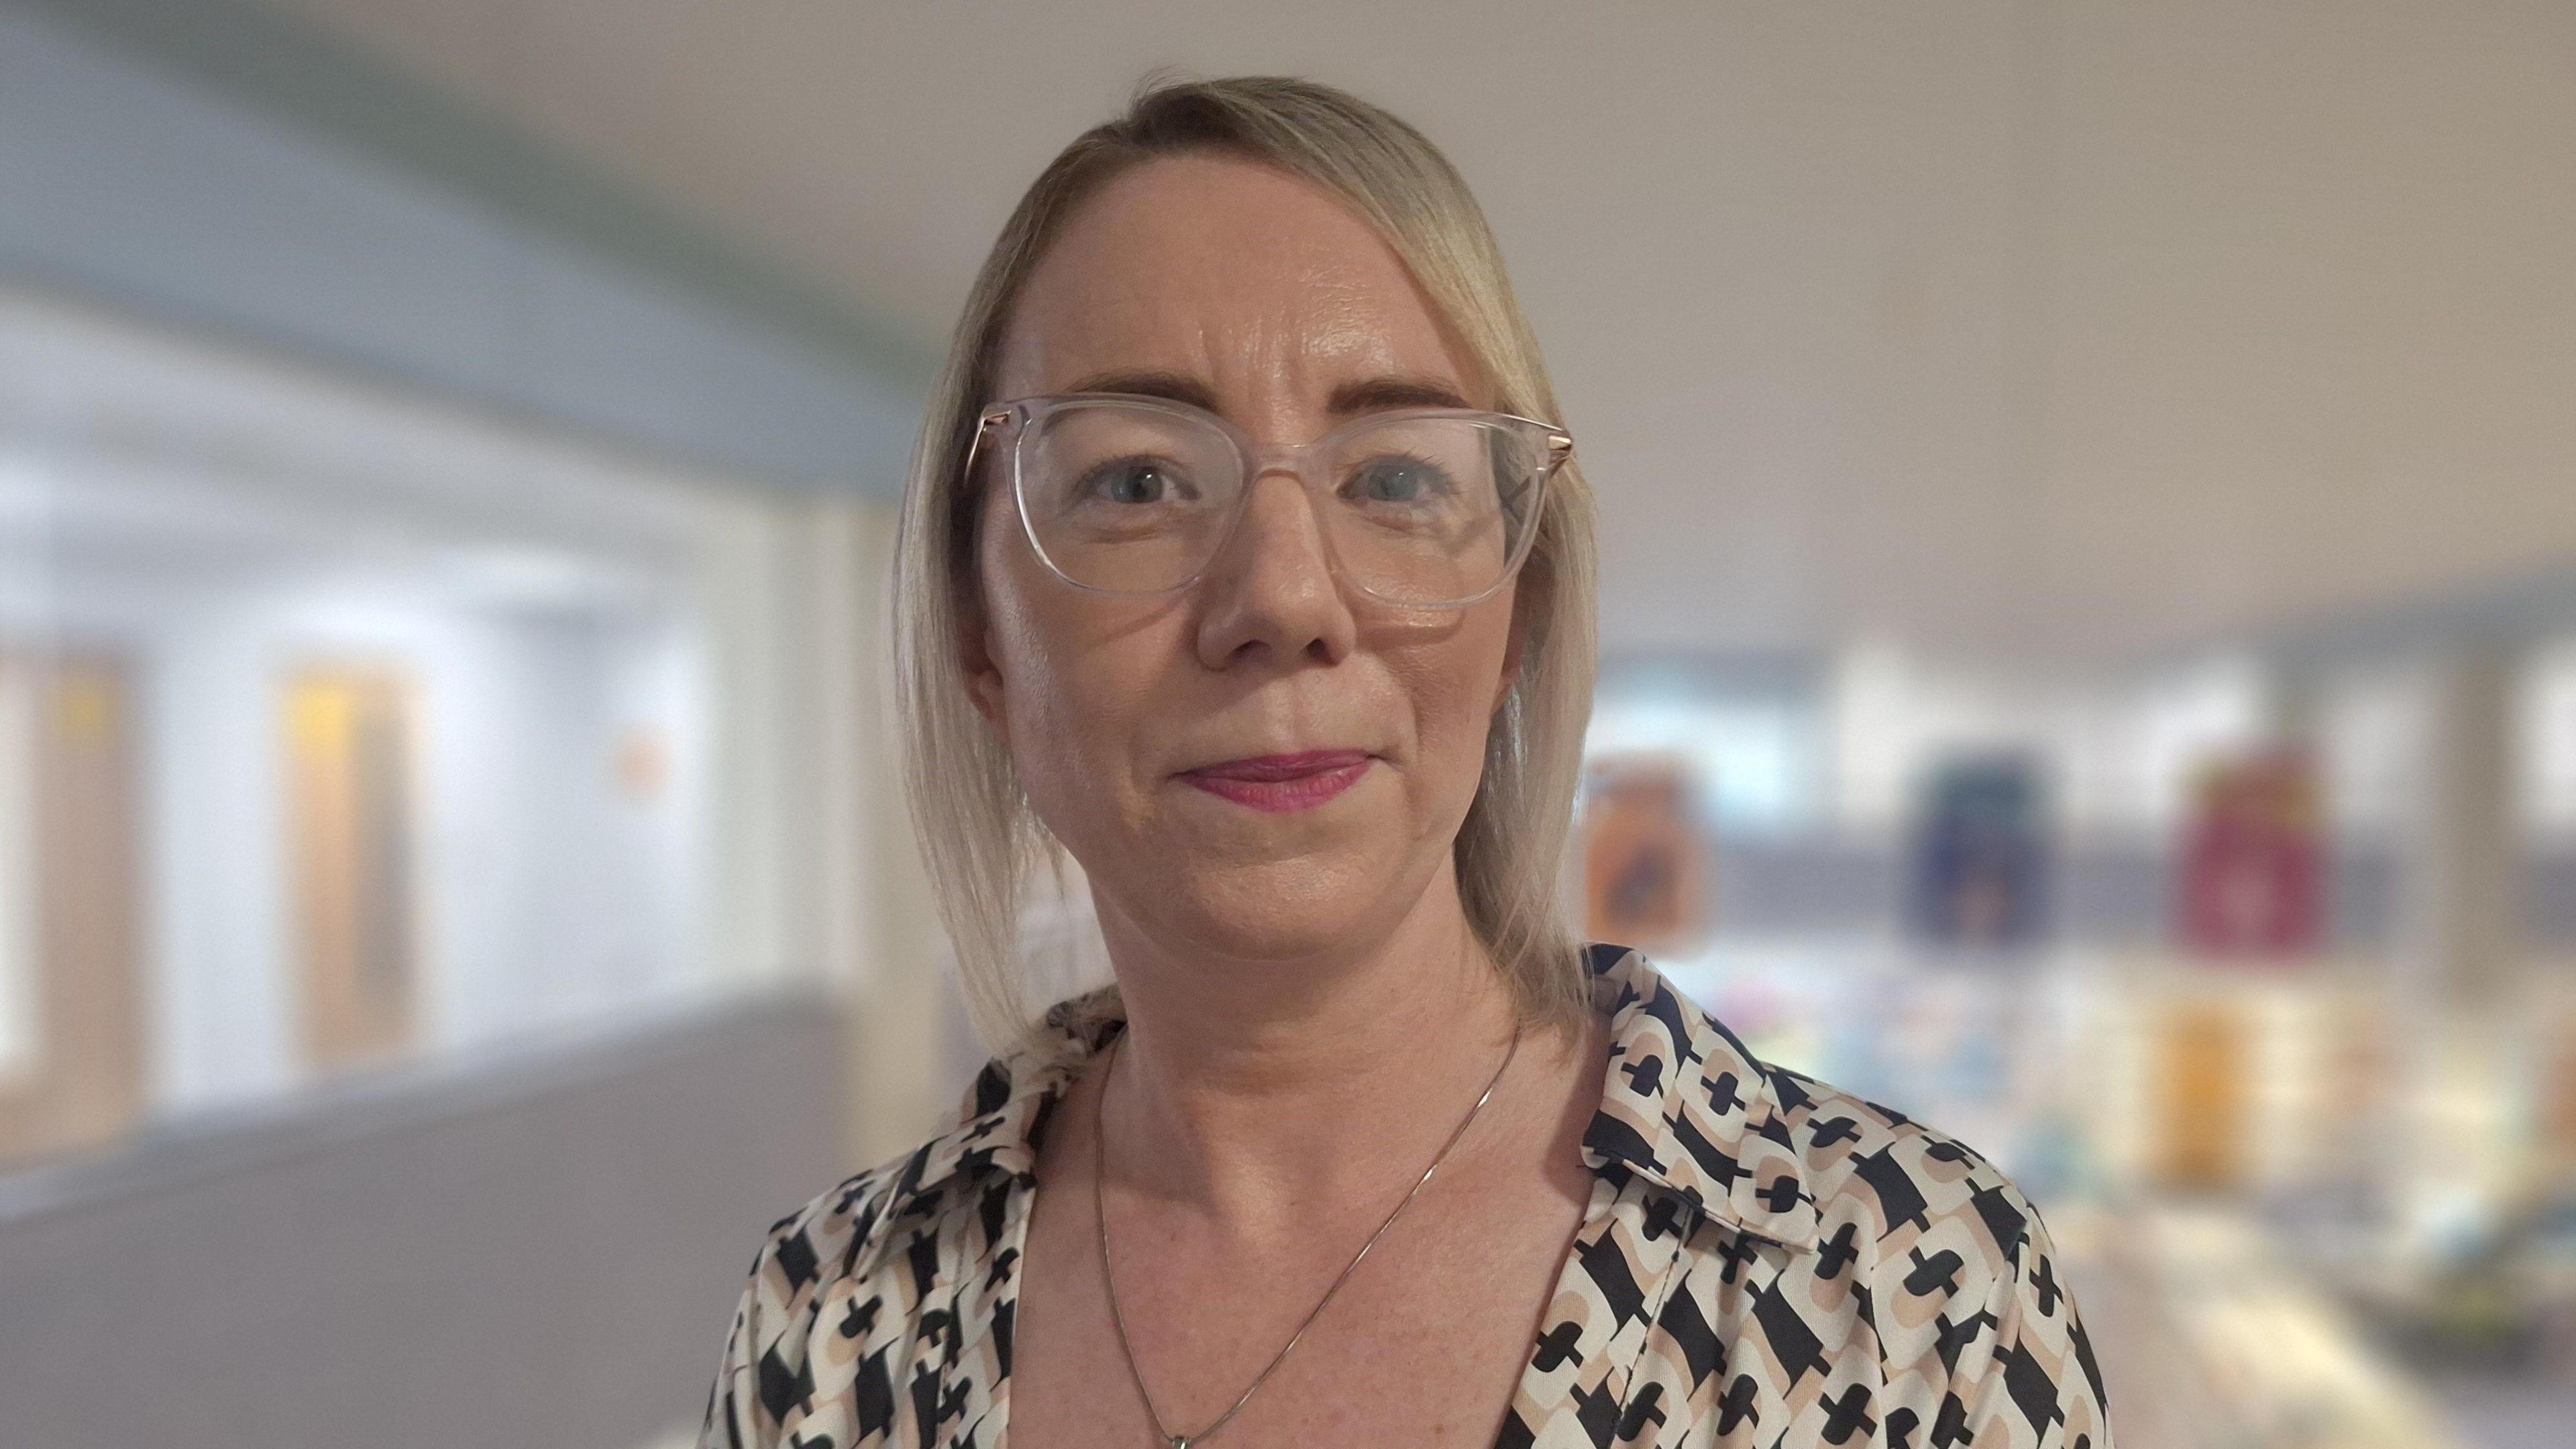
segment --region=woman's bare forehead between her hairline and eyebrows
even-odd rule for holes
[[[1329,191],[1234,157],[1162,157],[1084,199],[1020,289],[1002,397],[1177,371],[1247,407],[1378,374],[1473,394],[1404,260]]]

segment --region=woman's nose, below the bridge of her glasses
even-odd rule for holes
[[[1198,660],[1211,670],[1340,663],[1358,642],[1358,621],[1303,485],[1267,469],[1244,487],[1244,516],[1198,585]]]

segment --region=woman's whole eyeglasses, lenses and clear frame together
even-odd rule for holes
[[[1406,608],[1466,608],[1502,588],[1530,552],[1548,480],[1574,456],[1564,428],[1463,407],[1368,413],[1265,449],[1206,407],[1110,392],[987,410],[969,477],[984,446],[1007,451],[1020,529],[1074,588],[1188,588],[1234,536],[1252,480],[1291,472],[1334,575]]]

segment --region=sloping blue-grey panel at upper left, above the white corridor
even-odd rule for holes
[[[835,353],[0,5],[0,268],[791,485],[891,495],[907,358]]]

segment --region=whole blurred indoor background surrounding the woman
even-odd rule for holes
[[[0,1444],[688,1441],[981,1060],[889,529],[1157,64],[1484,199],[1597,938],[2002,1160],[2125,1449],[2568,1441],[2576,5],[0,0]]]

